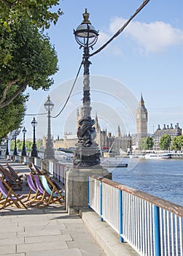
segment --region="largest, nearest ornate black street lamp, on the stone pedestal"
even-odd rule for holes
[[[84,80],[83,80],[83,106],[82,106],[82,118],[79,120],[79,128],[77,130],[78,142],[77,148],[74,150],[74,166],[75,167],[91,167],[100,164],[100,152],[98,144],[93,140],[96,138],[96,129],[93,127],[95,121],[91,118],[90,107],[90,48],[96,44],[98,39],[98,31],[94,29],[90,23],[89,13],[85,9],[83,13],[84,20],[74,30],[75,39],[83,48],[83,61],[84,66]]]

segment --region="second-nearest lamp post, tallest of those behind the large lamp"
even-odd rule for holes
[[[47,101],[44,103],[44,108],[47,110],[47,142],[44,151],[44,159],[55,159],[55,152],[53,149],[52,135],[51,135],[51,121],[50,113],[54,104],[52,103],[50,96],[47,97]]]

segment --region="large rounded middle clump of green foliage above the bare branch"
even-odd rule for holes
[[[0,49],[11,45],[11,56],[0,61],[0,108],[9,105],[26,86],[49,89],[58,59],[50,40],[28,20],[13,23],[11,31],[0,31]],[[4,56],[5,57],[5,56]]]

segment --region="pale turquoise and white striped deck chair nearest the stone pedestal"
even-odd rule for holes
[[[55,184],[52,183],[50,178],[48,176],[40,176],[40,179],[42,181],[42,186],[44,187],[45,191],[48,195],[50,195],[47,202],[48,205],[50,203],[60,203],[61,205],[63,205],[64,195],[61,191],[58,190]],[[50,187],[52,187],[52,189],[50,189]]]

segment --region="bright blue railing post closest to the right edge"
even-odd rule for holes
[[[160,256],[160,208],[154,206],[155,256]]]

